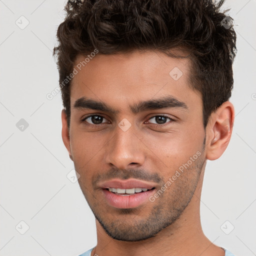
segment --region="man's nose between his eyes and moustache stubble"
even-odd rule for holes
[[[144,149],[132,126],[126,131],[117,126],[106,146],[106,162],[119,169],[139,167],[145,160]]]

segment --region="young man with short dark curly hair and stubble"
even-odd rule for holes
[[[83,256],[233,255],[199,215],[206,160],[234,121],[222,2],[68,1],[54,54],[63,142],[96,218]]]

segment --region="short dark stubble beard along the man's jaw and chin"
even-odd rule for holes
[[[85,190],[82,191],[95,218],[110,237],[122,241],[140,241],[155,236],[181,216],[194,194],[204,161],[202,151],[154,202],[148,201],[137,208],[116,209],[111,219],[104,216],[102,204],[97,203],[96,198],[93,202]],[[143,209],[150,204],[150,212],[144,212]]]

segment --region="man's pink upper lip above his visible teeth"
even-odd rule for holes
[[[142,181],[138,179],[127,179],[127,180],[122,180],[122,179],[111,179],[108,181],[101,182],[99,184],[101,188],[146,188],[146,189],[151,189],[156,186],[156,183],[152,182],[147,182],[147,181]]]

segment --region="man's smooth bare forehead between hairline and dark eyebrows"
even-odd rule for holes
[[[192,95],[198,100],[198,93],[189,87],[189,58],[154,51],[86,57],[78,55],[74,63],[77,74],[71,82],[71,106],[82,96],[121,108],[168,95],[187,105]]]

